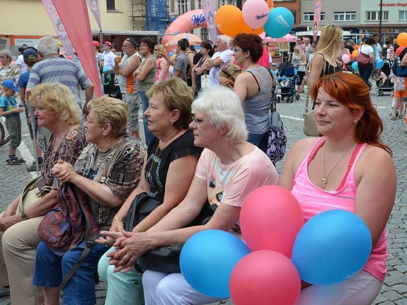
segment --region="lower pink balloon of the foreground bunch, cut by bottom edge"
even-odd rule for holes
[[[284,255],[252,252],[233,269],[229,290],[235,305],[294,305],[301,293],[300,275]]]

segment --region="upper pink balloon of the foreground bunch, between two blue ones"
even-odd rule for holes
[[[240,212],[240,227],[251,251],[273,250],[291,258],[294,240],[303,224],[297,199],[279,186],[254,190]]]

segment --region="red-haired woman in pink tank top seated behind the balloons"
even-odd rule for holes
[[[326,75],[315,82],[311,96],[323,136],[294,144],[279,185],[297,198],[305,221],[330,209],[354,212],[369,228],[372,248],[351,279],[336,285],[303,283],[297,305],[370,305],[387,272],[386,224],[396,194],[392,152],[380,140],[383,122],[359,76]]]

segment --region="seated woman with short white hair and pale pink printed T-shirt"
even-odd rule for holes
[[[222,103],[219,103],[222,101]],[[115,271],[128,271],[148,250],[185,242],[207,229],[229,231],[241,236],[240,210],[246,196],[258,187],[275,185],[278,174],[270,159],[247,142],[244,113],[238,96],[225,87],[203,92],[192,104],[194,144],[205,147],[184,200],[147,232],[128,233],[114,244],[110,264]],[[205,225],[185,228],[208,204],[216,205]],[[110,236],[103,231],[101,235]],[[181,273],[147,270],[143,278],[146,304],[207,304],[220,300],[193,289]]]

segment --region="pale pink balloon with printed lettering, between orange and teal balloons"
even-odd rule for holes
[[[263,26],[269,18],[269,6],[264,0],[247,0],[242,13],[247,25],[256,29]]]

